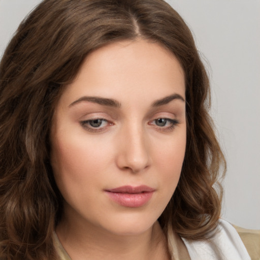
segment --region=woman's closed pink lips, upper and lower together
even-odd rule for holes
[[[117,204],[129,208],[138,208],[145,205],[152,198],[155,189],[142,185],[137,187],[122,186],[105,191],[109,198]]]

